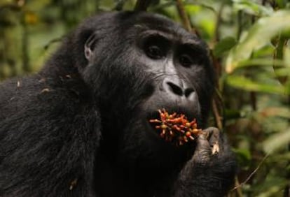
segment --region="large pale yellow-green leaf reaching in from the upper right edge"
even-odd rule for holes
[[[270,17],[263,17],[249,30],[244,41],[230,50],[226,59],[226,72],[232,73],[240,61],[249,59],[254,50],[270,42],[273,36],[290,29],[290,10],[279,10]]]

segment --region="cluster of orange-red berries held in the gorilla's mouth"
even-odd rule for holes
[[[202,129],[198,129],[196,120],[188,122],[185,115],[176,112],[169,114],[165,109],[158,110],[160,119],[150,119],[149,122],[158,124],[155,126],[160,131],[160,137],[175,145],[184,145],[189,140],[194,140]]]

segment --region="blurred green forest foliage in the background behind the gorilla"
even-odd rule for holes
[[[285,196],[290,185],[290,3],[185,0],[219,75],[209,124],[228,135],[239,161],[229,196]],[[134,0],[0,0],[0,79],[34,73],[85,17],[132,10]],[[149,12],[181,23],[176,1]],[[288,190],[287,190],[288,189]]]

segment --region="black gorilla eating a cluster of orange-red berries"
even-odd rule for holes
[[[0,85],[0,196],[225,196],[236,165],[206,127],[214,78],[205,43],[166,17],[88,18],[39,73]],[[202,134],[160,138],[163,108]]]

